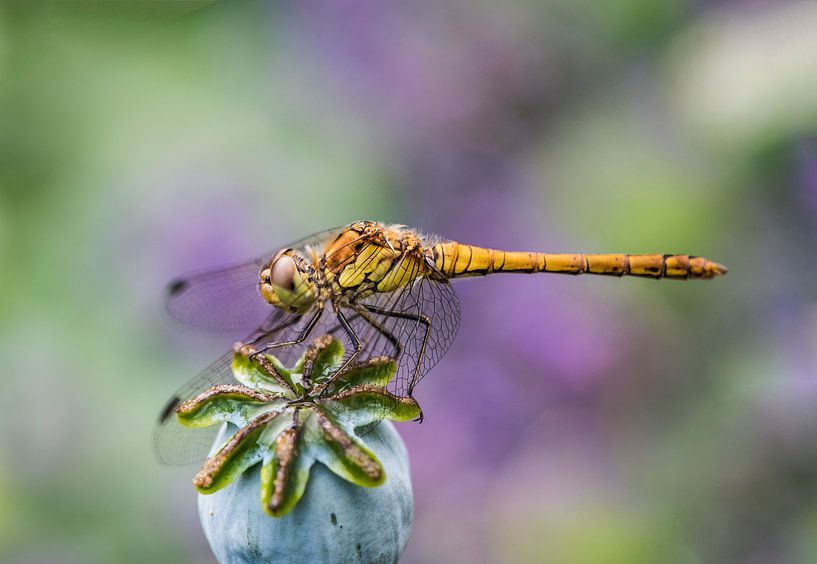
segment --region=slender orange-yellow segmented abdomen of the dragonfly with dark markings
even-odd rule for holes
[[[483,249],[454,241],[434,245],[431,256],[437,268],[448,278],[484,276],[495,272],[561,272],[687,280],[714,278],[728,272],[723,265],[690,255],[526,253]]]

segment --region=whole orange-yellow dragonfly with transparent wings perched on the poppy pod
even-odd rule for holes
[[[167,464],[203,459],[217,429],[181,427],[175,408],[214,385],[232,383],[234,354],[291,359],[291,351],[314,335],[345,337],[351,345],[335,375],[355,360],[394,358],[390,391],[412,397],[457,333],[460,302],[452,279],[539,272],[695,280],[726,274],[727,268],[688,254],[504,251],[376,221],[330,229],[170,283],[167,310],[182,325],[249,334],[170,398],[159,416],[154,450]]]

